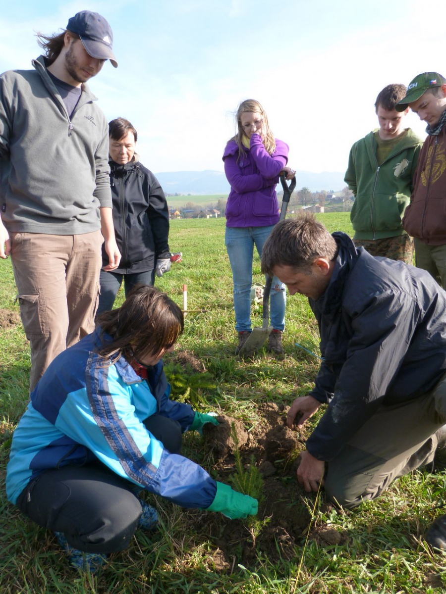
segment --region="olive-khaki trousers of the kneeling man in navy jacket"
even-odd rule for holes
[[[378,497],[399,476],[431,463],[445,412],[445,378],[425,396],[381,406],[328,463],[328,498],[356,507]]]

